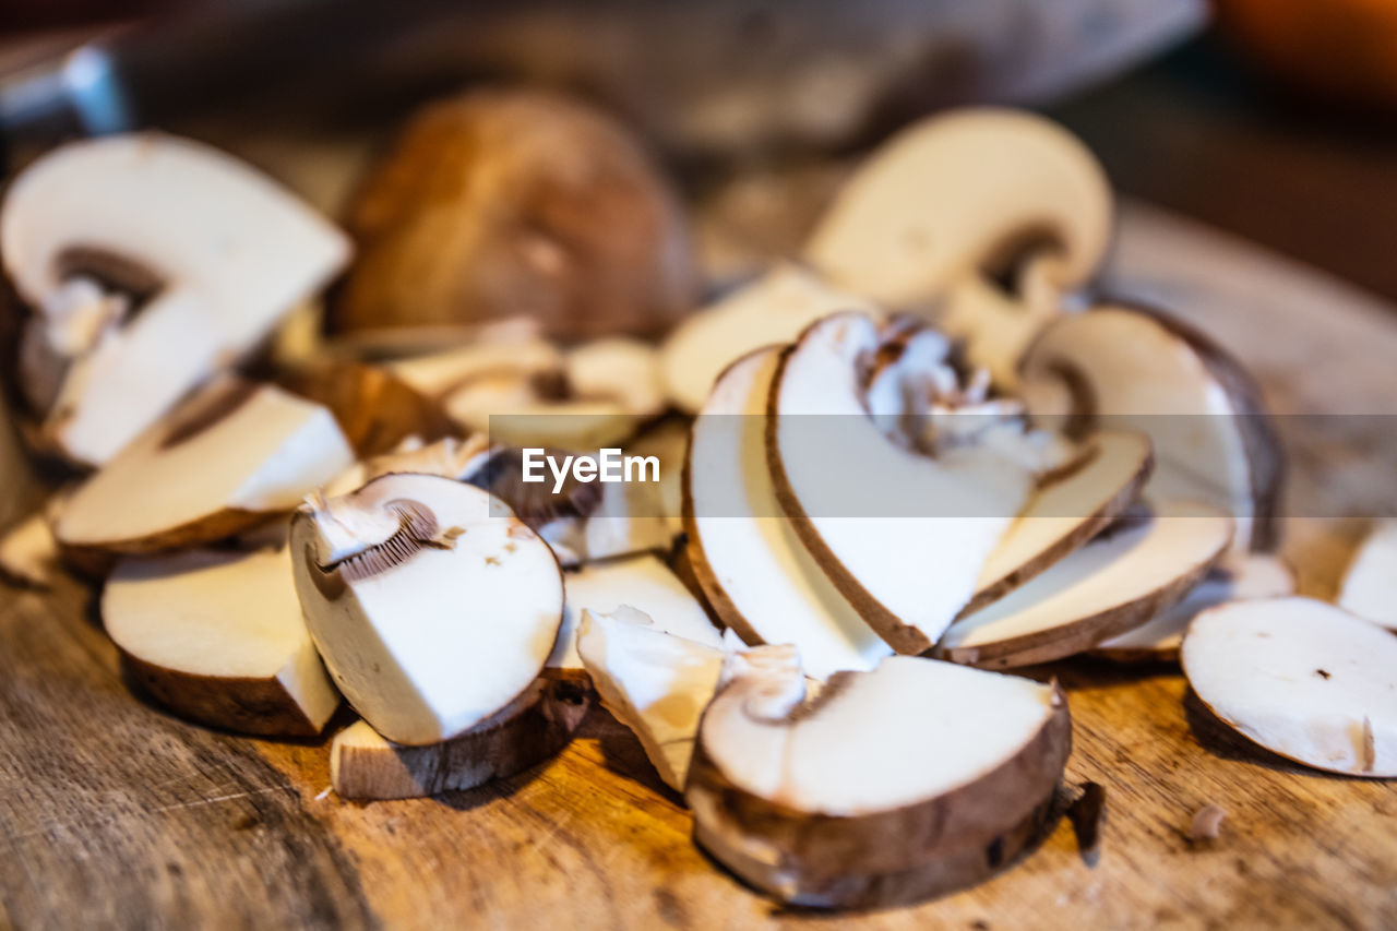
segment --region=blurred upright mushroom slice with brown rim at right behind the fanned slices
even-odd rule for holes
[[[1067,315],[1024,356],[1021,389],[1038,418],[1147,433],[1150,496],[1214,505],[1238,551],[1274,548],[1284,453],[1256,384],[1203,334],[1123,305]]]

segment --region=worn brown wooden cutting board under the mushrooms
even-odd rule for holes
[[[1125,211],[1111,278],[1173,298],[1255,368],[1277,411],[1397,410],[1397,313],[1334,281],[1143,207]],[[1291,521],[1287,552],[1320,594],[1359,528],[1336,517],[1390,510],[1397,488],[1391,459],[1355,454],[1373,446],[1348,436],[1350,421],[1380,428],[1376,418],[1282,422],[1310,514]],[[6,590],[0,605],[0,927],[812,918],[707,860],[680,800],[605,712],[562,756],[515,779],[348,804],[327,791],[328,741],[235,737],[133,698],[78,586]],[[1208,726],[1168,665],[1071,661],[1048,672],[1073,714],[1069,787],[1106,787],[1099,861],[1084,861],[1062,821],[990,882],[849,924],[1397,923],[1397,786],[1303,772],[1241,745]],[[1228,812],[1222,835],[1194,846],[1185,835],[1210,802]]]

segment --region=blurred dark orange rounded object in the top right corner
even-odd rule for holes
[[[1277,78],[1397,108],[1397,0],[1214,0],[1218,25]]]

